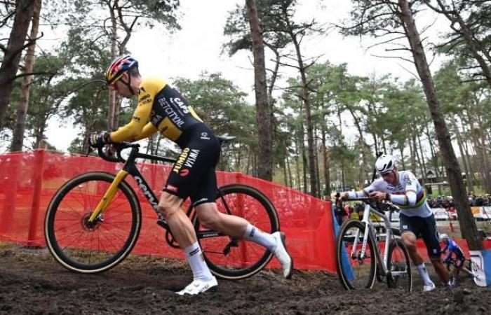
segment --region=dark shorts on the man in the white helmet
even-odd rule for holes
[[[440,258],[440,237],[436,230],[436,221],[433,214],[426,218],[399,214],[399,226],[401,228],[401,235],[404,232],[413,232],[417,238],[423,238],[426,251],[428,251],[430,258]]]

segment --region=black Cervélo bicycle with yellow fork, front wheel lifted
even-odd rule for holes
[[[217,137],[222,145],[235,137]],[[121,151],[130,148],[126,160]],[[126,181],[128,174],[142,191],[157,223],[166,230],[166,241],[179,247],[166,221],[157,211],[158,199],[135,165],[146,158],[175,162],[173,158],[139,152],[139,144],[112,144],[99,148],[100,158],[124,162],[114,175],[88,172],[70,179],[55,193],[46,211],[44,235],[49,251],[63,267],[74,272],[105,272],[122,262],[137,243],[142,225],[142,210],[137,195]],[[110,151],[116,151],[110,155]],[[217,207],[227,214],[241,216],[269,233],[280,229],[278,214],[269,199],[256,188],[243,184],[217,187]],[[234,239],[214,230],[206,230],[192,206],[187,209],[203,250],[206,264],[222,279],[245,279],[263,269],[272,253],[253,242]]]

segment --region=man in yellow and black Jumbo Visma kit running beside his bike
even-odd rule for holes
[[[119,130],[91,134],[90,146],[137,141],[161,132],[182,150],[163,187],[158,207],[186,253],[193,272],[193,281],[177,294],[195,295],[217,286],[215,276],[203,260],[193,225],[181,211],[187,197],[190,197],[203,227],[268,248],[281,263],[285,278],[290,278],[293,261],[286,250],[283,232],[268,234],[243,218],[217,210],[215,166],[220,158],[220,143],[182,94],[166,80],[142,78],[137,60],[130,55],[116,58],[107,68],[105,77],[109,88],[121,97],[137,96],[138,105],[130,122]]]

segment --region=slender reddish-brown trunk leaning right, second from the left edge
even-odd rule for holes
[[[39,13],[41,12],[41,0],[34,0],[34,9],[32,13],[32,26],[29,38],[34,41],[39,29]],[[35,42],[34,42],[35,43]],[[24,73],[32,73],[34,68],[34,49],[36,45],[29,45],[25,54]],[[22,151],[24,146],[25,119],[27,116],[27,107],[29,106],[29,93],[31,88],[32,75],[25,76],[22,80],[20,90],[19,108],[13,130],[11,151]]]

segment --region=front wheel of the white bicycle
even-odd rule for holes
[[[351,255],[356,233],[358,233],[356,251]],[[337,275],[346,290],[361,290],[372,288],[375,282],[377,258],[375,256],[375,241],[368,234],[365,256],[361,256],[365,224],[358,220],[343,223],[336,239]]]

